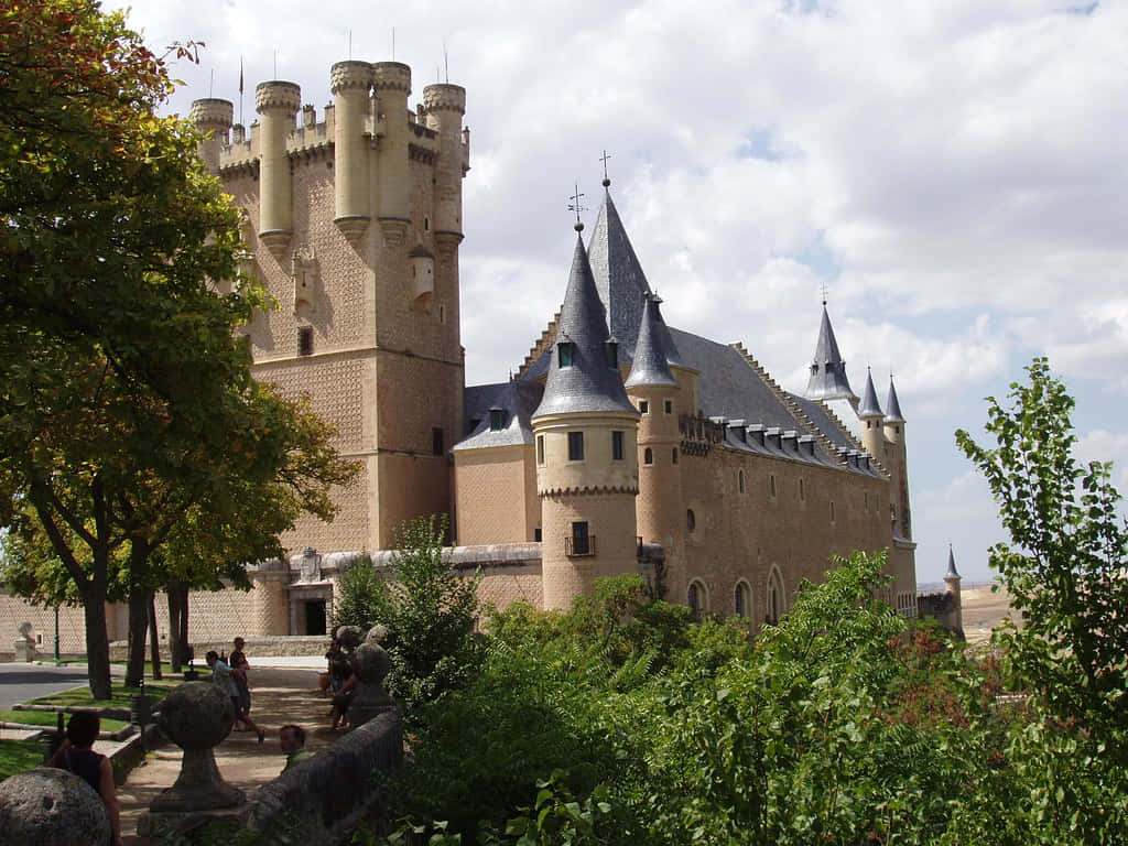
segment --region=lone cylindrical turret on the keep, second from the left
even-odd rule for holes
[[[258,238],[275,256],[285,252],[293,230],[290,159],[285,141],[301,106],[301,88],[293,82],[259,82],[258,112]]]

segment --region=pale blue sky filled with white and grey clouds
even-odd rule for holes
[[[115,3],[109,3],[111,6]],[[124,6],[125,3],[116,3]],[[329,67],[393,58],[412,103],[467,89],[467,380],[521,362],[563,296],[600,155],[671,325],[807,385],[821,289],[855,391],[908,418],[922,582],[1002,539],[953,431],[1048,355],[1084,459],[1128,491],[1128,9],[1050,0],[134,0],[150,45],[206,44],[173,103],[254,85],[329,102]],[[444,61],[446,54],[446,61]],[[499,332],[499,327],[505,327]]]

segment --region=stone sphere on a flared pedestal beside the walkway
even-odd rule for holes
[[[210,681],[187,681],[165,697],[157,724],[184,750],[176,784],[164,791],[149,810],[211,811],[236,808],[243,791],[223,781],[215,766],[215,747],[231,733],[235,705]]]

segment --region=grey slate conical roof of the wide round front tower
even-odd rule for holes
[[[633,335],[634,333],[632,333]],[[637,414],[627,399],[617,364],[608,358],[607,318],[596,290],[583,240],[576,236],[572,273],[556,325],[556,341],[545,381],[545,395],[532,417],[581,412]],[[561,367],[559,349],[571,344],[571,364]]]

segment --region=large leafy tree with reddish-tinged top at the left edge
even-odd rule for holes
[[[265,294],[238,273],[237,212],[196,135],[156,115],[171,85],[120,12],[0,9],[0,521],[42,532],[73,581],[98,698],[116,581],[151,590],[193,514],[224,553],[270,546],[248,508],[280,505],[281,528],[329,515],[351,473],[250,376],[232,331]]]

